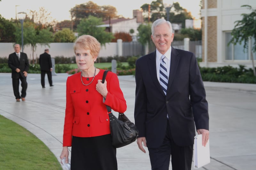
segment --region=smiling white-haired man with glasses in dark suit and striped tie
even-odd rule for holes
[[[156,51],[136,61],[137,144],[144,153],[142,142],[148,147],[152,170],[168,170],[170,156],[173,170],[190,170],[195,131],[203,135],[204,146],[209,139],[204,84],[195,55],[171,47],[171,23],[157,19],[151,31]],[[162,58],[168,75],[166,94],[160,85]]]

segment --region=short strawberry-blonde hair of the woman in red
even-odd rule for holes
[[[100,42],[91,35],[79,36],[73,46],[75,53],[78,47],[90,50],[93,58],[97,57],[100,53]]]

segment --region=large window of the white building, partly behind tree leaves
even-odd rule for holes
[[[228,42],[231,40],[232,35],[231,32],[225,33],[225,60],[250,60],[248,54],[248,50],[245,49],[244,51],[244,42],[241,44],[237,43],[236,45],[230,44],[228,46]],[[249,43],[252,47],[252,41]],[[255,55],[255,54],[254,54]]]

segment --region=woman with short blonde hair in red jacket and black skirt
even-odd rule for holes
[[[123,92],[115,73],[108,72],[106,81],[102,83],[104,70],[94,66],[100,53],[100,43],[94,37],[78,37],[74,51],[81,72],[67,79],[60,159],[68,158],[68,147],[72,146],[72,170],[115,170],[116,148],[111,144],[106,105],[116,112],[124,113],[127,106]]]

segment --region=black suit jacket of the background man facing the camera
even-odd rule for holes
[[[25,78],[23,71],[28,72],[29,69],[27,54],[20,52],[20,61],[16,53],[10,54],[8,59],[8,66],[12,69],[12,78],[20,78],[20,75]],[[17,68],[20,69],[19,73],[15,71]]]

